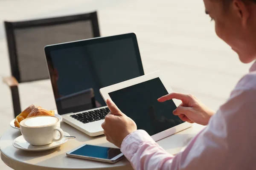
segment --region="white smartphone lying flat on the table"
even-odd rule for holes
[[[120,149],[90,144],[83,144],[70,150],[67,152],[67,156],[108,163],[115,163],[125,157]]]

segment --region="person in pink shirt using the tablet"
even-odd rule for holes
[[[243,63],[256,59],[256,0],[204,0],[206,14],[215,20],[218,37],[227,42]],[[102,124],[109,142],[137,170],[255,170],[256,62],[236,85],[226,103],[214,113],[192,95],[168,94],[165,102],[180,99],[173,114],[183,121],[207,125],[185,150],[170,155],[107,100],[111,110]]]

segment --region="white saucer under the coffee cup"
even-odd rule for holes
[[[63,132],[64,136],[70,136],[67,132]],[[61,144],[64,144],[68,141],[68,138],[63,138],[58,142],[52,142],[51,144],[47,144],[44,146],[33,146],[26,142],[26,140],[23,138],[23,136],[19,136],[12,142],[12,145],[20,150],[29,150],[29,151],[42,151],[42,150],[49,150],[53,149],[55,147],[60,146]]]

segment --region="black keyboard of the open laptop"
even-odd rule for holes
[[[94,111],[88,111],[84,113],[73,114],[70,117],[82,122],[82,123],[89,123],[95,122],[101,119],[105,119],[105,116],[109,113],[108,108],[102,108]]]

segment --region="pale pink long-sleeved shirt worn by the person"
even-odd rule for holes
[[[186,149],[173,156],[144,130],[121,151],[136,170],[256,170],[256,62]]]

